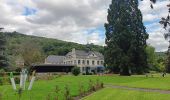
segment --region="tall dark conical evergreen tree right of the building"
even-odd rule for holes
[[[112,0],[107,21],[105,64],[112,72],[121,75],[146,71],[148,34],[142,23],[138,0]]]

